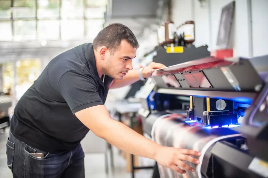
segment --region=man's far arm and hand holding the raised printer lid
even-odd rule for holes
[[[161,69],[164,67],[166,67],[166,66],[161,64],[161,63],[152,62],[142,70],[142,76],[144,78],[151,77],[152,73],[154,72],[154,69]],[[121,87],[124,87],[126,85],[133,84],[133,83],[137,82],[138,80],[140,80],[138,71],[131,70],[123,77],[122,80],[114,80],[112,85],[110,86],[110,89],[121,88]]]

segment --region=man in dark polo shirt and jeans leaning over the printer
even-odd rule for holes
[[[104,28],[93,43],[68,50],[49,62],[14,109],[7,140],[7,164],[13,177],[85,177],[80,141],[89,130],[128,153],[156,160],[174,171],[193,171],[193,150],[162,147],[111,119],[104,107],[109,88],[150,77],[151,63],[132,70],[138,42],[122,24]],[[94,144],[94,143],[92,143]],[[180,168],[181,169],[180,169]]]

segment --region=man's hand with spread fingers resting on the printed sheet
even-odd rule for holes
[[[155,155],[155,160],[162,166],[173,169],[178,173],[186,173],[186,170],[194,172],[194,169],[184,163],[188,161],[199,164],[200,161],[190,155],[200,156],[201,153],[194,150],[178,149],[173,147],[160,147]]]

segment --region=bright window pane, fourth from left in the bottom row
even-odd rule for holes
[[[84,20],[62,20],[62,39],[84,39]]]

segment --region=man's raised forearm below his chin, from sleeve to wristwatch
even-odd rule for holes
[[[121,87],[124,87],[126,85],[131,85],[131,84],[137,82],[138,80],[140,80],[138,71],[131,70],[131,71],[128,71],[128,73],[126,74],[126,76],[123,77],[122,80],[114,80],[113,84],[110,86],[110,89],[121,88]]]

